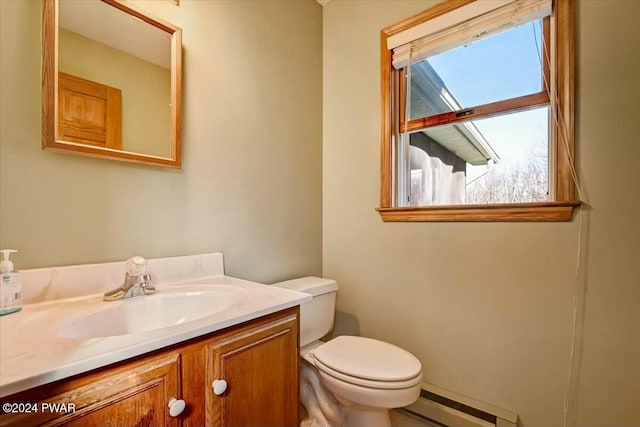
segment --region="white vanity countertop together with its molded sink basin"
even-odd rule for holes
[[[175,273],[159,268],[155,294],[109,302],[102,300],[102,292],[112,287],[103,289],[111,276],[105,276],[102,267],[83,268],[78,277],[66,269],[34,270],[31,277],[37,280],[29,292],[32,297],[37,293],[42,302],[0,317],[0,397],[207,336],[311,299],[301,292],[216,273],[222,271],[222,257],[215,268],[196,261],[180,259]],[[119,271],[112,274],[120,277]],[[92,294],[80,296],[85,275],[86,291]]]

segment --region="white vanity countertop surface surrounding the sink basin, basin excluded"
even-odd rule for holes
[[[253,320],[311,299],[310,295],[228,276],[200,277],[156,285],[228,285],[242,288],[247,297],[237,305],[191,322],[128,335],[100,338],[66,338],[56,335],[59,323],[34,322],[63,304],[96,304],[102,293],[23,306],[22,311],[0,317],[0,397],[119,362],[191,338]],[[155,295],[155,294],[154,294]],[[153,298],[154,295],[139,298]],[[111,302],[102,302],[112,304]],[[69,306],[70,307],[70,306]],[[63,311],[64,313],[64,311]],[[40,324],[42,323],[42,324]]]

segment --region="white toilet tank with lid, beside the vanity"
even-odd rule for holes
[[[336,311],[335,280],[321,277],[301,277],[274,283],[272,286],[311,294],[311,301],[300,304],[300,347],[319,340],[333,328]]]

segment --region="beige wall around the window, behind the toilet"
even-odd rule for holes
[[[568,421],[640,425],[640,2],[578,5],[587,214],[557,224],[385,224],[374,211],[379,30],[429,4],[335,0],[323,10],[323,272],[340,285],[338,321],[348,322],[338,329],[407,348],[426,381],[514,410],[525,426],[562,425],[581,238],[588,291]]]

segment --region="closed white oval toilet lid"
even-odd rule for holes
[[[314,357],[345,375],[375,381],[403,381],[421,373],[416,357],[398,346],[371,338],[343,335],[321,345]]]

